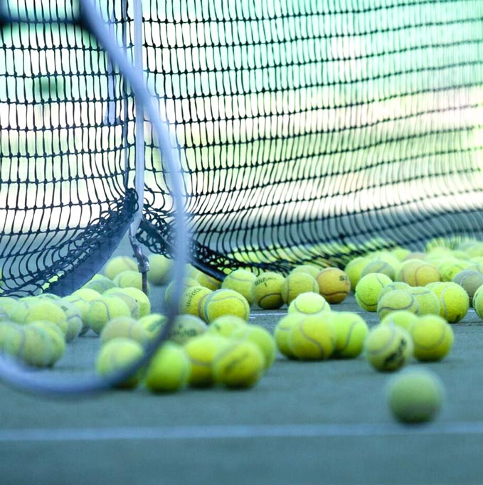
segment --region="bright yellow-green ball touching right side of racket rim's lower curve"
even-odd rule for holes
[[[174,393],[188,383],[191,363],[184,348],[166,342],[154,354],[144,383],[154,393]]]

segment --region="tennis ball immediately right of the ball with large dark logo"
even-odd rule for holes
[[[418,361],[440,361],[450,352],[455,340],[450,324],[439,315],[420,316],[410,328],[410,334]]]

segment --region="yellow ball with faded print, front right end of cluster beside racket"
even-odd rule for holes
[[[213,361],[215,381],[228,388],[251,388],[258,383],[264,370],[265,356],[250,341],[229,341]]]

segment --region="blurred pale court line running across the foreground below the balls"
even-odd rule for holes
[[[483,435],[483,422],[439,422],[426,425],[334,424],[334,425],[217,425],[107,428],[38,428],[0,430],[0,443],[100,442],[109,440],[254,439],[398,437],[412,435]]]

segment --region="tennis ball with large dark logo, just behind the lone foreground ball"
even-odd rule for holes
[[[397,371],[413,356],[413,341],[400,326],[377,325],[364,341],[364,353],[378,371]]]

